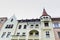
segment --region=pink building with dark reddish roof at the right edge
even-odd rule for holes
[[[53,18],[55,40],[60,40],[60,18]]]

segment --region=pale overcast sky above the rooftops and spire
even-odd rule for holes
[[[60,17],[60,0],[0,0],[0,17],[36,19],[43,8],[51,17]]]

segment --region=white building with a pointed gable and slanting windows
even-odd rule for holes
[[[11,40],[11,35],[14,34],[17,27],[16,17],[13,15],[8,19],[0,31],[0,40]]]

